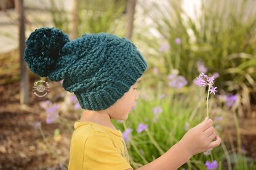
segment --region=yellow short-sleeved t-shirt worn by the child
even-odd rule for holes
[[[120,130],[88,121],[74,123],[69,170],[129,168],[133,169]]]

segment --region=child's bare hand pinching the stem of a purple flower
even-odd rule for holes
[[[212,120],[205,118],[199,125],[191,128],[180,140],[191,155],[205,152],[210,148],[220,145],[221,139],[215,133]],[[212,141],[216,138],[216,141]]]

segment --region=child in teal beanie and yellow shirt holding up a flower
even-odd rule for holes
[[[57,28],[40,28],[26,41],[25,61],[35,74],[63,80],[84,109],[74,123],[70,170],[133,169],[120,130],[110,119],[126,120],[138,99],[147,63],[137,47],[113,34],[83,34],[70,41]],[[191,156],[220,144],[212,120],[190,129],[166,153],[138,169],[177,169]],[[217,139],[213,141],[213,139]]]

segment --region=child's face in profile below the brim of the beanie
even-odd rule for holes
[[[141,77],[137,82],[130,87],[130,90],[124,93],[122,98],[118,99],[112,106],[107,110],[110,114],[110,118],[114,120],[126,120],[132,107],[135,106],[135,101],[138,99],[138,83],[141,81]]]

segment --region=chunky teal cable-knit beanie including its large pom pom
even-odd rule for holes
[[[34,74],[63,80],[83,109],[107,109],[129,91],[147,63],[137,47],[114,34],[69,40],[58,28],[39,28],[26,40],[24,60]]]

